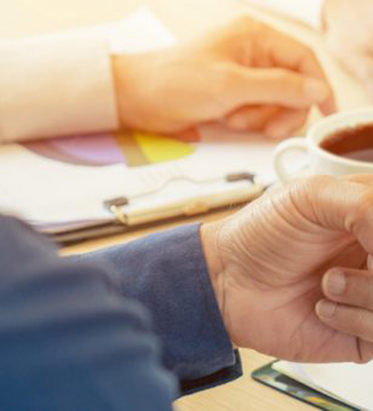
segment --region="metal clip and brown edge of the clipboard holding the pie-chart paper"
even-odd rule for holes
[[[168,184],[172,179],[168,181]],[[61,245],[69,245],[81,241],[91,240],[98,237],[121,234],[125,232],[136,231],[141,228],[162,224],[164,222],[185,222],[186,219],[192,219],[195,216],[202,215],[226,208],[236,208],[243,203],[254,200],[260,196],[265,187],[263,184],[256,182],[253,174],[243,172],[229,174],[224,178],[223,184],[229,189],[223,193],[214,195],[213,191],[208,192],[208,187],[215,182],[221,184],[220,179],[207,182],[195,183],[203,186],[207,193],[196,195],[189,199],[175,199],[169,201],[165,199],[156,205],[150,201],[146,205],[136,206],[139,198],[149,195],[137,195],[134,198],[121,196],[106,200],[103,206],[110,211],[112,219],[104,222],[86,222],[82,226],[71,229],[60,230],[49,228],[40,231],[52,237],[54,241]],[[131,209],[129,207],[132,206]]]

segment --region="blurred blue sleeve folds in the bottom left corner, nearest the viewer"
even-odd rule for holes
[[[177,382],[150,315],[114,271],[58,258],[5,217],[0,264],[1,410],[171,410]]]

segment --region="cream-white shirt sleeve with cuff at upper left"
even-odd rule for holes
[[[71,33],[0,41],[0,142],[118,128],[108,43]]]

